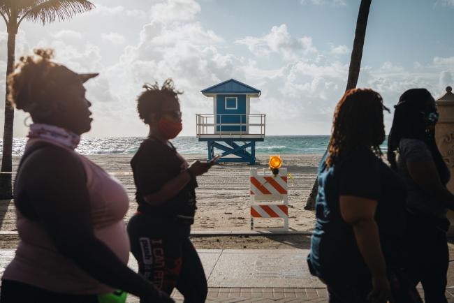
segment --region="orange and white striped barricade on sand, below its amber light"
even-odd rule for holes
[[[251,230],[254,219],[277,218],[284,220],[283,230],[288,230],[287,169],[281,168],[278,175],[268,170],[259,173],[251,170]]]

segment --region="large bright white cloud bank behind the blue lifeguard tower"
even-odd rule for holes
[[[170,7],[172,3],[168,1]],[[281,54],[288,64],[266,69],[253,59],[224,52],[224,39],[190,18],[154,20],[140,31],[138,45],[127,46],[119,64],[109,68],[110,89],[119,99],[131,99],[139,94],[143,82],[161,83],[172,77],[177,89],[184,91],[183,135],[193,135],[195,114],[213,110],[212,101],[200,90],[233,77],[262,90],[260,100],[252,101],[251,110],[267,114],[269,129],[284,131],[281,121],[286,119],[295,126],[286,128],[286,133],[297,134],[302,128],[313,134],[328,133],[348,66],[322,55],[299,59],[303,54],[316,54],[316,48],[309,37],[292,38],[285,24],[257,39],[260,42],[251,45],[254,51]],[[133,119],[137,119],[136,113]]]

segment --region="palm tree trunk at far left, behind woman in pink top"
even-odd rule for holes
[[[6,77],[14,71],[15,45],[16,45],[17,27],[11,29],[8,27],[8,65],[6,66]],[[14,108],[8,101],[9,89],[6,85],[5,98],[5,125],[3,130],[3,154],[1,158],[1,172],[11,172],[13,170],[13,126],[14,126]],[[0,174],[0,199],[13,198],[11,186],[11,174]]]

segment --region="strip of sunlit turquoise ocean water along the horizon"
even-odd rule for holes
[[[82,138],[77,150],[85,155],[134,154],[143,139]],[[270,135],[264,142],[256,143],[256,154],[323,154],[328,146],[328,140],[328,135]],[[196,137],[177,137],[172,142],[181,154],[207,154],[207,142],[198,142]],[[22,155],[26,143],[27,138],[14,138],[13,155]],[[386,144],[383,142],[382,151],[386,151]],[[3,141],[0,141],[1,150]]]

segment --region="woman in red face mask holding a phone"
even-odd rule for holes
[[[139,272],[156,288],[184,295],[184,302],[205,302],[207,281],[189,240],[196,212],[196,176],[212,163],[189,165],[168,140],[182,131],[178,95],[168,79],[160,88],[145,84],[138,98],[139,117],[149,135],[131,160],[138,211],[128,223],[131,251]]]

